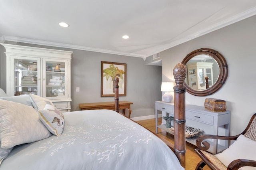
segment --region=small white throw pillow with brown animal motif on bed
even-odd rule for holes
[[[56,136],[62,134],[65,121],[64,116],[58,109],[47,104],[44,110],[40,110],[38,113],[40,121],[52,134]]]

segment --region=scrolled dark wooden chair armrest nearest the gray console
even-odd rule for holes
[[[200,150],[208,150],[210,148],[210,143],[205,141],[205,139],[220,139],[220,140],[236,140],[240,134],[236,136],[218,136],[212,134],[203,134],[196,139],[196,146]]]

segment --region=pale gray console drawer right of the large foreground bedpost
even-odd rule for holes
[[[204,115],[204,114],[200,114],[200,113],[195,113],[195,112],[191,112],[191,111],[186,111],[186,119],[192,119],[192,120],[196,120],[196,121],[200,121],[203,123],[208,123],[213,125],[214,124],[214,117],[210,116],[210,115]]]

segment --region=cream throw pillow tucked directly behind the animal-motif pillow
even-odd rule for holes
[[[32,105],[36,111],[43,110],[46,104],[54,106],[50,100],[44,97],[40,97],[34,94],[29,94],[29,95],[30,95]]]

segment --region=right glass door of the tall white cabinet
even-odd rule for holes
[[[43,97],[49,99],[68,98],[68,61],[43,59]]]

